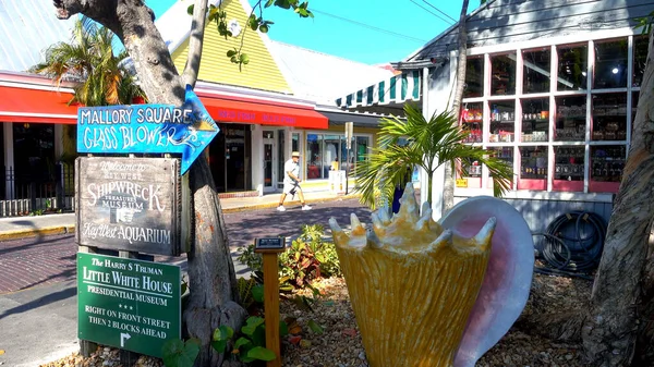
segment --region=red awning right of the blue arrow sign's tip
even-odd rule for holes
[[[262,125],[327,129],[329,120],[311,106],[274,105],[238,97],[215,97],[198,94],[203,105],[216,121]]]

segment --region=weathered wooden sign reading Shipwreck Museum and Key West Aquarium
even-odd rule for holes
[[[168,158],[77,158],[77,245],[179,255],[178,166]]]

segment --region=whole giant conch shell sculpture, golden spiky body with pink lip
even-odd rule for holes
[[[502,210],[512,209],[502,200],[484,198]],[[472,225],[441,225],[432,219],[428,204],[420,215],[413,186],[408,184],[400,211],[392,218],[384,209],[373,212],[372,229],[366,230],[355,215],[351,216],[350,234],[334,218],[329,220],[371,367],[472,367],[522,311],[529,285],[526,295],[479,305],[480,301],[494,299],[495,291],[483,290],[484,285],[507,283],[498,281],[502,277],[492,283],[485,281],[487,268],[497,268],[489,261],[497,224],[496,216],[491,215],[497,208],[475,211],[464,203],[444,222],[449,223],[450,217],[462,218],[461,222]],[[531,264],[533,267],[533,243]],[[531,272],[524,281],[531,284]],[[477,297],[481,293],[484,299]],[[501,314],[504,302],[514,308],[508,316]],[[468,334],[473,338],[467,339]]]

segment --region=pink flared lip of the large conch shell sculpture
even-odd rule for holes
[[[522,215],[505,200],[476,196],[457,204],[439,223],[467,236],[497,219],[484,283],[472,308],[455,367],[473,367],[518,319],[534,271],[534,243]]]

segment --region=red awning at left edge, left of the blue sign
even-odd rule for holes
[[[65,91],[0,86],[0,121],[29,123],[77,123],[77,106]]]

